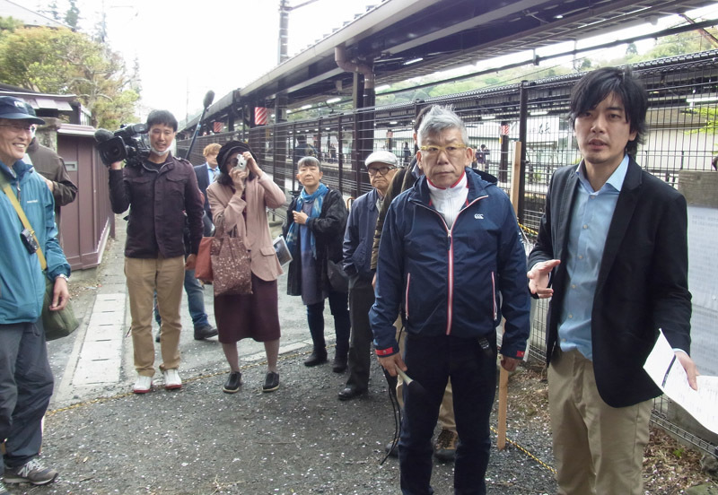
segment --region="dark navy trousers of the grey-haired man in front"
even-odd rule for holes
[[[459,445],[454,461],[454,493],[486,494],[486,467],[491,438],[489,416],[496,388],[496,339],[487,337],[485,352],[477,338],[407,334],[407,375],[424,387],[404,386],[404,421],[398,441],[401,492],[430,495],[432,435],[447,380],[453,387]]]

